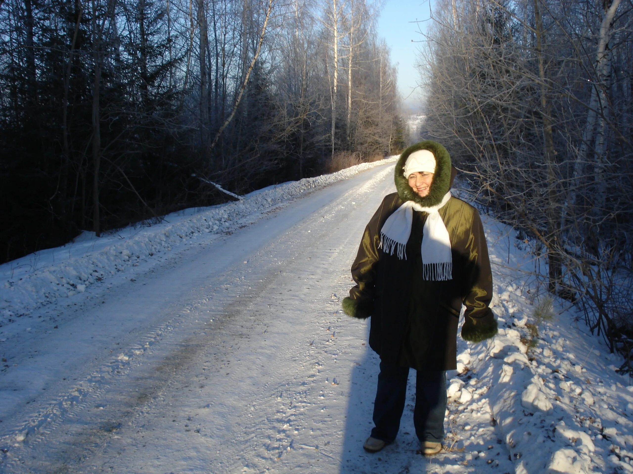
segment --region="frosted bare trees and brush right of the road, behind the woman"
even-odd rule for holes
[[[630,373],[633,3],[438,0],[432,15],[425,133]]]

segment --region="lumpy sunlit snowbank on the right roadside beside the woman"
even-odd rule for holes
[[[460,341],[461,374],[449,380],[449,399],[458,411],[481,414],[475,404],[485,394],[491,424],[517,474],[633,472],[633,387],[615,372],[617,356],[608,354],[601,339],[584,334],[572,310],[561,308],[555,308],[553,322],[539,326],[538,344],[529,348],[539,297],[534,281],[518,269],[534,263],[516,239],[519,248],[508,252],[510,228],[486,217],[484,224],[499,334],[487,344]]]

